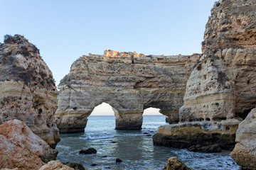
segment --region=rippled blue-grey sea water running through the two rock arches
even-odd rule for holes
[[[208,154],[153,145],[152,135],[160,125],[168,125],[164,115],[144,115],[142,130],[114,130],[114,115],[90,115],[85,132],[60,134],[57,159],[82,163],[85,169],[149,170],[163,169],[169,157],[177,157],[195,170],[240,169],[230,151]],[[90,147],[97,154],[79,154]],[[116,163],[117,158],[122,162]]]

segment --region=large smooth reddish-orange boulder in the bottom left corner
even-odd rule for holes
[[[0,125],[0,169],[39,169],[57,154],[20,120]]]

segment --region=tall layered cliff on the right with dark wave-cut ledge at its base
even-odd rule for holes
[[[156,145],[176,147],[181,137],[184,147],[189,147],[196,142],[187,132],[189,127],[196,128],[198,143],[205,144],[210,135],[224,148],[235,145],[238,120],[256,104],[255,12],[254,0],[215,3],[206,24],[203,56],[191,72],[179,110],[182,124],[159,128]]]

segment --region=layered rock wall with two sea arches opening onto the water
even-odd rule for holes
[[[58,88],[55,122],[60,132],[83,132],[95,106],[109,103],[117,130],[142,127],[144,109],[160,108],[169,122],[178,122],[186,81],[200,55],[163,56],[106,50],[82,56]]]

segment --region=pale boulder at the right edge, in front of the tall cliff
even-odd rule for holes
[[[256,108],[239,124],[231,157],[241,169],[256,169]]]

